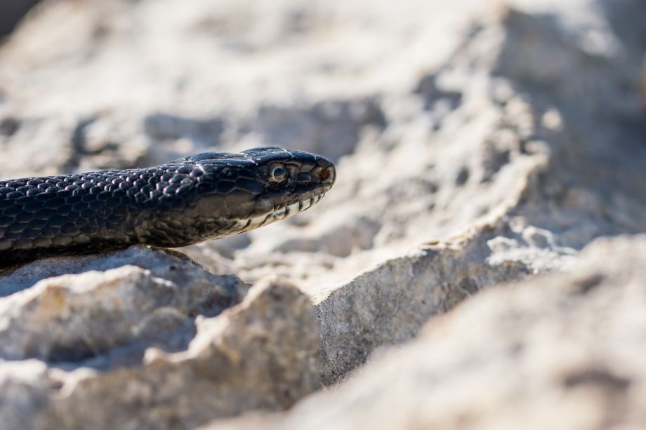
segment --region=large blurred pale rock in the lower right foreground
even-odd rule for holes
[[[646,236],[477,295],[334,391],[202,429],[640,429]]]

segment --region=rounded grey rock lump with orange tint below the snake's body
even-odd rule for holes
[[[173,282],[134,266],[47,278],[0,299],[0,358],[54,363],[128,346],[180,349],[195,335],[195,316],[220,314],[244,293],[233,276]]]

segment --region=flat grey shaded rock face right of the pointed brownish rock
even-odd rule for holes
[[[323,382],[343,380],[380,347],[410,340],[428,318],[531,271],[520,261],[496,261],[477,236],[427,246],[357,276],[317,301]]]

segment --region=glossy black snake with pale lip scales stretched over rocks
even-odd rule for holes
[[[0,265],[232,236],[312,207],[335,178],[323,156],[260,147],[0,181]]]

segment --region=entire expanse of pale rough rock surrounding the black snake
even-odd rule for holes
[[[338,177],[249,234],[1,274],[7,428],[642,428],[645,22],[41,1],[0,45],[0,179],[268,145]]]

